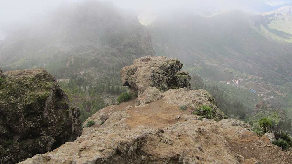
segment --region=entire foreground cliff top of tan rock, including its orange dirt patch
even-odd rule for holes
[[[101,125],[102,116],[108,119]],[[132,99],[106,107],[88,118],[87,121],[95,124],[84,128],[82,136],[74,142],[37,154],[21,164],[256,164],[260,161],[272,164],[291,160],[291,152],[282,152],[269,139],[258,137],[242,121],[198,119],[190,115],[190,110],[180,111],[167,100],[135,107]]]

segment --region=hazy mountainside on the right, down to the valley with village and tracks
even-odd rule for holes
[[[160,15],[147,27],[157,55],[183,61],[184,70],[209,80],[206,85],[218,85],[248,109],[262,99],[285,108],[292,117],[288,103],[292,97],[284,93],[292,80],[291,22],[290,14],[252,16],[234,10],[208,18],[192,13]],[[232,82],[240,78],[239,84]],[[247,89],[257,93],[248,94]]]

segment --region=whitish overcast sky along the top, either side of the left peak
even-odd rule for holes
[[[34,22],[57,8],[60,4],[83,2],[84,0],[1,0],[0,1],[0,39],[4,39],[14,27]],[[145,8],[204,8],[204,6],[226,7],[235,3],[265,1],[275,4],[292,0],[112,0],[114,5],[137,12]],[[246,5],[243,4],[243,5]]]

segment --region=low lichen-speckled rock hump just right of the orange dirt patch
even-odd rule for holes
[[[203,89],[189,90],[187,88],[171,89],[162,93],[162,97],[167,102],[174,105],[191,107],[196,111],[200,106],[206,105],[212,109],[212,119],[220,121],[226,119],[227,116],[216,104],[214,97]]]

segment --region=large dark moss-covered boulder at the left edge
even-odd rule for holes
[[[9,71],[0,83],[0,161],[16,163],[81,135],[79,108],[45,69]],[[0,163],[1,163],[0,162]]]

